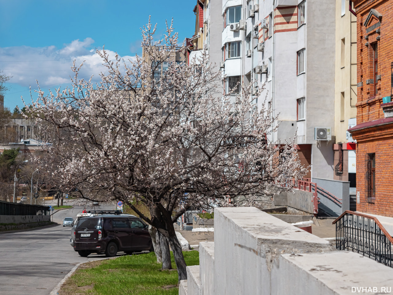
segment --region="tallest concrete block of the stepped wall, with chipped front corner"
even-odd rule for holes
[[[253,207],[216,208],[215,294],[270,294],[271,270],[285,253],[332,251],[326,240]]]

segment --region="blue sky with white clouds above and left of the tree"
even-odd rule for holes
[[[179,40],[195,30],[196,0],[0,0],[0,70],[12,75],[4,106],[22,107],[30,100],[29,85],[44,91],[69,84],[70,66],[86,59],[83,75],[103,70],[95,48],[122,57],[140,54],[140,27],[149,15],[165,31],[165,19],[174,19]],[[33,98],[35,94],[33,93]]]

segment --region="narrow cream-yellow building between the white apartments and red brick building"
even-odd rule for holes
[[[356,125],[356,15],[352,3],[336,0],[334,179],[349,181],[351,210],[356,210],[356,144],[348,128]]]

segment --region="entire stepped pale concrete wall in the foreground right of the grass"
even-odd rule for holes
[[[393,283],[391,267],[257,208],[217,208],[215,219],[215,242],[200,243],[200,265],[187,267],[179,294],[381,294]]]

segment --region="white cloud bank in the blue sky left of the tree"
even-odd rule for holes
[[[92,48],[94,40],[86,38],[83,41],[79,39],[69,44],[64,44],[61,49],[55,46],[46,47],[0,47],[0,69],[4,73],[13,76],[10,83],[17,83],[20,86],[36,88],[36,80],[41,87],[50,87],[51,89],[60,86],[60,84],[69,83],[70,76],[74,76],[71,66],[73,59],[79,66],[84,60],[79,77],[89,78],[95,74],[95,80],[99,79],[98,74],[105,72],[101,57]],[[115,52],[107,50],[110,59],[114,60]],[[135,59],[132,56],[123,57],[127,62],[128,59]]]

